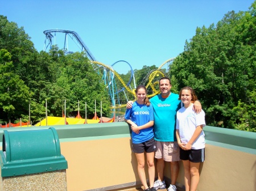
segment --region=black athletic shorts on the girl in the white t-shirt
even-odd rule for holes
[[[189,160],[192,163],[204,162],[204,148],[183,150],[180,148],[180,160]]]

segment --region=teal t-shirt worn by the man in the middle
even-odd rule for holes
[[[154,109],[155,140],[173,142],[176,139],[176,113],[181,108],[179,95],[171,93],[167,98],[160,94],[152,97],[150,103]]]

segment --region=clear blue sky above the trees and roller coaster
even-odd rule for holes
[[[44,49],[43,31],[67,29],[79,34],[97,61],[124,60],[133,69],[160,66],[183,52],[196,27],[217,24],[228,11],[247,11],[253,0],[1,0],[0,14],[24,27],[35,48]],[[64,39],[56,34],[59,46]],[[72,42],[69,40],[69,43]],[[69,50],[72,50],[70,45]],[[75,50],[76,51],[76,50]],[[114,66],[118,73],[130,67]]]

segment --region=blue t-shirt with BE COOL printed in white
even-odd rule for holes
[[[125,119],[133,121],[137,126],[154,121],[154,111],[152,104],[149,106],[140,105],[135,101],[133,107],[126,109]],[[131,138],[133,143],[143,143],[154,137],[153,127],[139,130],[139,134],[132,131]]]

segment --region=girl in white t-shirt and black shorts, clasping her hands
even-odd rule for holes
[[[204,162],[205,113],[193,111],[193,102],[197,100],[191,87],[181,88],[179,99],[184,107],[177,111],[176,137],[180,146],[180,159],[184,165],[184,181],[186,191],[196,191],[199,183],[199,166]]]

